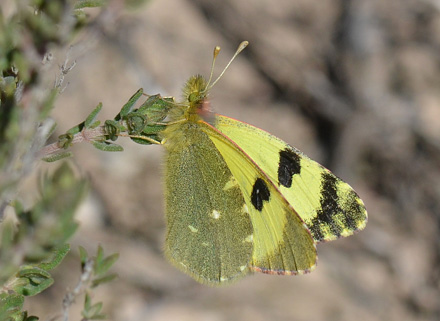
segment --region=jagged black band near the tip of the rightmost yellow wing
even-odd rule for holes
[[[315,240],[322,240],[325,237],[321,231],[323,226],[327,226],[337,237],[341,236],[342,232],[342,226],[334,218],[337,213],[343,211],[339,206],[336,186],[338,179],[328,172],[322,173],[321,179],[321,208],[316,212],[317,216],[312,220],[311,228]]]

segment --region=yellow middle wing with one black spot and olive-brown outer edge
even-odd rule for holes
[[[204,123],[204,131],[223,156],[231,180],[239,186],[253,226],[250,267],[271,274],[311,271],[316,264],[314,240],[301,218],[265,173],[233,141]]]

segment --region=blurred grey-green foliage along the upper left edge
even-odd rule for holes
[[[0,8],[0,217],[47,138],[48,131],[39,127],[45,128],[59,88],[47,88],[42,62],[49,48],[67,44],[85,25],[67,1],[17,0],[15,5],[8,17]]]

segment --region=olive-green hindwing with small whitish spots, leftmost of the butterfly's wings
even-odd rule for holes
[[[170,126],[169,126],[170,127]],[[173,128],[169,128],[173,131]],[[197,125],[169,135],[166,255],[196,280],[220,284],[249,273],[252,225],[227,164]]]

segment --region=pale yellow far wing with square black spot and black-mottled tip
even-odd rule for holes
[[[279,138],[238,120],[216,115],[214,126],[258,164],[315,241],[349,236],[365,227],[367,212],[362,200],[322,165]]]

